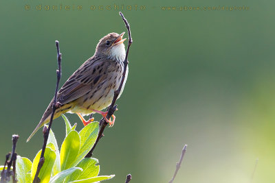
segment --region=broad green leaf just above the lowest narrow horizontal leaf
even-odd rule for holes
[[[84,158],[76,165],[76,167],[80,167],[83,171],[75,171],[65,182],[96,177],[99,173],[99,165],[96,165],[97,163],[98,160],[96,158]]]

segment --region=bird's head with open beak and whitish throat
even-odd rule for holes
[[[125,46],[123,42],[126,40],[126,38],[122,38],[124,33],[117,34],[113,32],[101,38],[96,46],[96,55],[123,61],[125,58]]]

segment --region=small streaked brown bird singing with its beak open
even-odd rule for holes
[[[118,90],[122,80],[126,56],[123,43],[126,40],[126,38],[123,38],[124,33],[112,32],[101,38],[98,45],[96,45],[94,56],[86,60],[58,90],[56,96],[59,108],[54,112],[54,119],[67,112],[74,113],[78,114],[78,117],[83,121],[83,125],[86,126],[94,121],[94,118],[91,117],[88,121],[85,121],[83,116],[99,113],[110,126],[113,126],[115,116],[112,116],[113,120],[111,121],[106,117],[107,112],[102,112],[102,110],[111,104],[114,91]],[[128,71],[127,65],[118,98],[124,90]],[[54,99],[50,102],[27,142],[43,125],[50,122],[53,103]]]

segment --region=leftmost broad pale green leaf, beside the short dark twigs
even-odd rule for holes
[[[28,158],[17,156],[17,180],[21,183],[27,183],[27,173],[32,169],[32,162]]]

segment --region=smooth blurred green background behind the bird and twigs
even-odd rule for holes
[[[185,5],[200,9],[179,10]],[[12,134],[20,135],[17,153],[30,160],[43,145],[41,131],[25,141],[54,95],[54,41],[63,53],[63,84],[93,56],[102,36],[126,31],[121,10],[134,42],[115,125],[94,151],[100,175],[115,174],[108,182],[124,182],[128,173],[131,182],[168,182],[188,144],[175,182],[275,182],[274,5],[2,0],[0,164]],[[212,10],[223,6],[245,10]],[[76,114],[67,117],[77,130],[83,127]],[[61,145],[63,119],[52,129]]]

